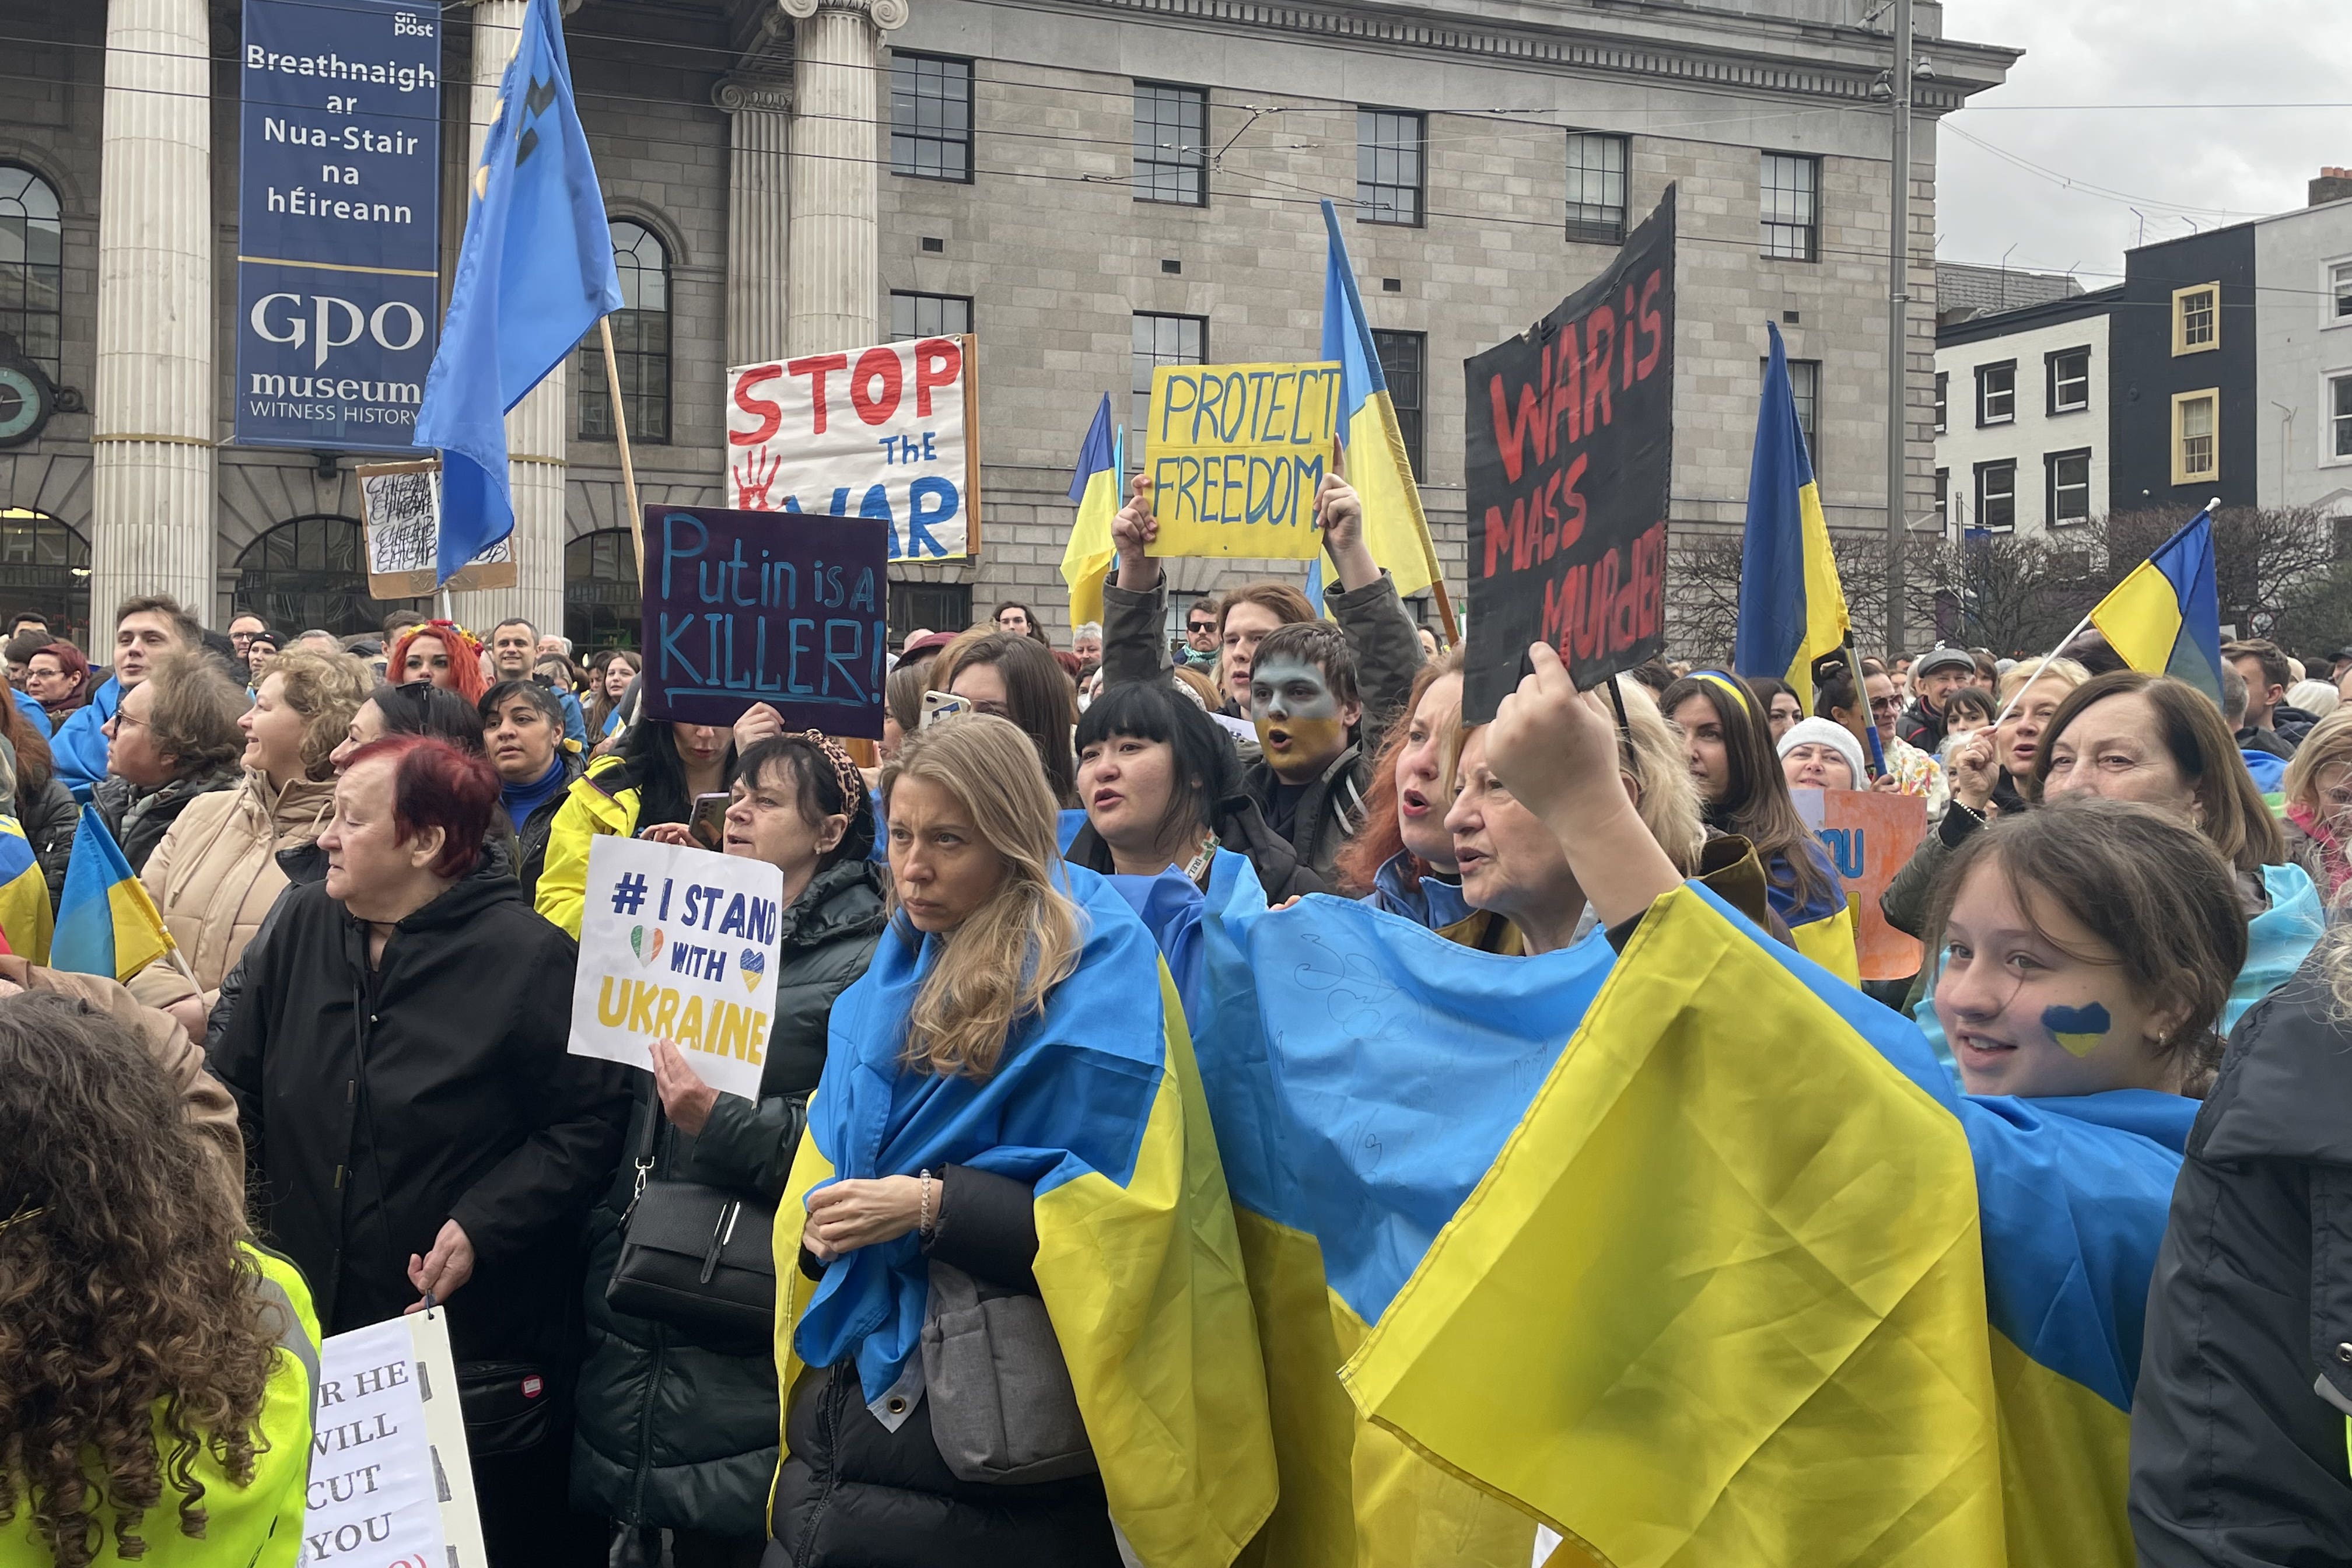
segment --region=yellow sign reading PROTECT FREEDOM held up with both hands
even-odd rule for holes
[[[1150,552],[1315,559],[1336,433],[1338,364],[1155,367]]]

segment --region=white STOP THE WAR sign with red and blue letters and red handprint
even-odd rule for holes
[[[981,552],[981,341],[915,339],[727,371],[727,496],[889,527],[889,559]]]

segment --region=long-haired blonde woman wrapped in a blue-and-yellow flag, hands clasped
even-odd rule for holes
[[[910,736],[882,811],[891,926],[779,1208],[776,1544],[1225,1568],[1275,1502],[1265,1371],[1167,966],[1014,724]]]

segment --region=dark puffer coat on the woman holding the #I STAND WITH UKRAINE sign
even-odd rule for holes
[[[816,875],[783,912],[776,1027],[760,1103],[720,1095],[699,1138],[663,1124],[656,1180],[729,1187],[774,1204],[793,1171],[809,1093],[826,1067],[833,999],[873,957],[884,910],[880,867],[844,860]],[[626,1152],[654,1114],[652,1079],[637,1088]],[[588,1361],[572,1439],[572,1502],[630,1526],[694,1528],[757,1540],[776,1476],[776,1352],[701,1340],[604,1305],[621,1258],[621,1213],[635,1187],[623,1157],[590,1218]]]

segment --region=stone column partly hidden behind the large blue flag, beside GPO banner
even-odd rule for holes
[[[576,9],[564,5],[564,12]],[[499,78],[522,38],[522,0],[475,0],[473,7],[473,134],[466,169],[482,160],[482,139],[499,118]],[[456,618],[473,632],[506,616],[527,616],[541,632],[564,630],[564,440],[572,404],[564,360],[506,416],[506,484],[515,498],[515,585],[452,595]]]

